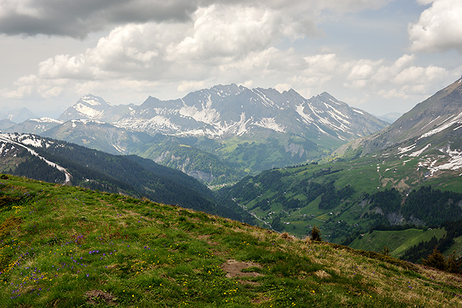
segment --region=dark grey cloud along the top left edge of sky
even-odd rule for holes
[[[1,6],[0,33],[83,38],[120,23],[188,21],[198,1],[7,0]]]

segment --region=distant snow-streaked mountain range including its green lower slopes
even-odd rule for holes
[[[112,106],[86,94],[58,120],[4,123],[2,129],[140,155],[218,185],[317,160],[385,126],[326,92],[304,99],[294,90],[229,84],[170,101],[149,97],[139,106]]]

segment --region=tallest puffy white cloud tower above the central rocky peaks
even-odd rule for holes
[[[170,46],[168,54],[172,60],[240,58],[267,47],[281,26],[279,13],[242,6],[200,8],[194,19],[191,35]]]

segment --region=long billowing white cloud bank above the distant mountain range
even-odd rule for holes
[[[251,54],[272,53],[275,49],[269,45],[283,35],[281,28],[290,26],[281,26],[281,19],[280,13],[267,9],[236,6],[230,10],[213,5],[198,9],[190,23],[129,23],[114,28],[85,53],[44,60],[39,76],[200,78]],[[284,64],[282,59],[272,65]]]

